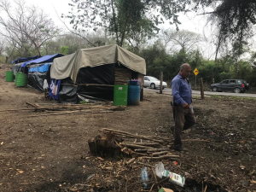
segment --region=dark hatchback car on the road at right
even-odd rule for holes
[[[249,89],[249,84],[243,79],[225,79],[218,84],[211,84],[211,90],[217,91],[234,91],[235,93],[243,93]]]

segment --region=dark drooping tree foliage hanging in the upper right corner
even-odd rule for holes
[[[255,35],[253,26],[256,24],[256,1],[255,0],[193,0],[194,9],[212,8],[209,20],[218,27],[218,42],[216,44],[217,59],[219,49],[223,44],[238,43],[238,51],[242,52],[244,41]]]

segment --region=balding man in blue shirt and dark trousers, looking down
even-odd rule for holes
[[[172,79],[172,97],[173,97],[173,118],[175,121],[172,134],[174,143],[171,148],[177,151],[183,150],[181,141],[182,131],[189,129],[195,125],[195,115],[192,106],[192,90],[189,84],[189,75],[191,67],[188,63],[184,63],[180,67],[177,76]]]

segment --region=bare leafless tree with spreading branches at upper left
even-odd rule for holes
[[[27,7],[23,1],[13,3],[15,6],[7,0],[0,3],[0,34],[16,48],[26,50],[33,46],[41,55],[41,46],[57,35],[58,28],[43,10],[33,5]]]

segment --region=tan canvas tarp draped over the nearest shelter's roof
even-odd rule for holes
[[[79,49],[71,55],[56,58],[50,68],[51,79],[71,78],[76,82],[79,69],[113,64],[119,61],[132,71],[146,74],[145,60],[118,45],[106,45],[90,49]]]

